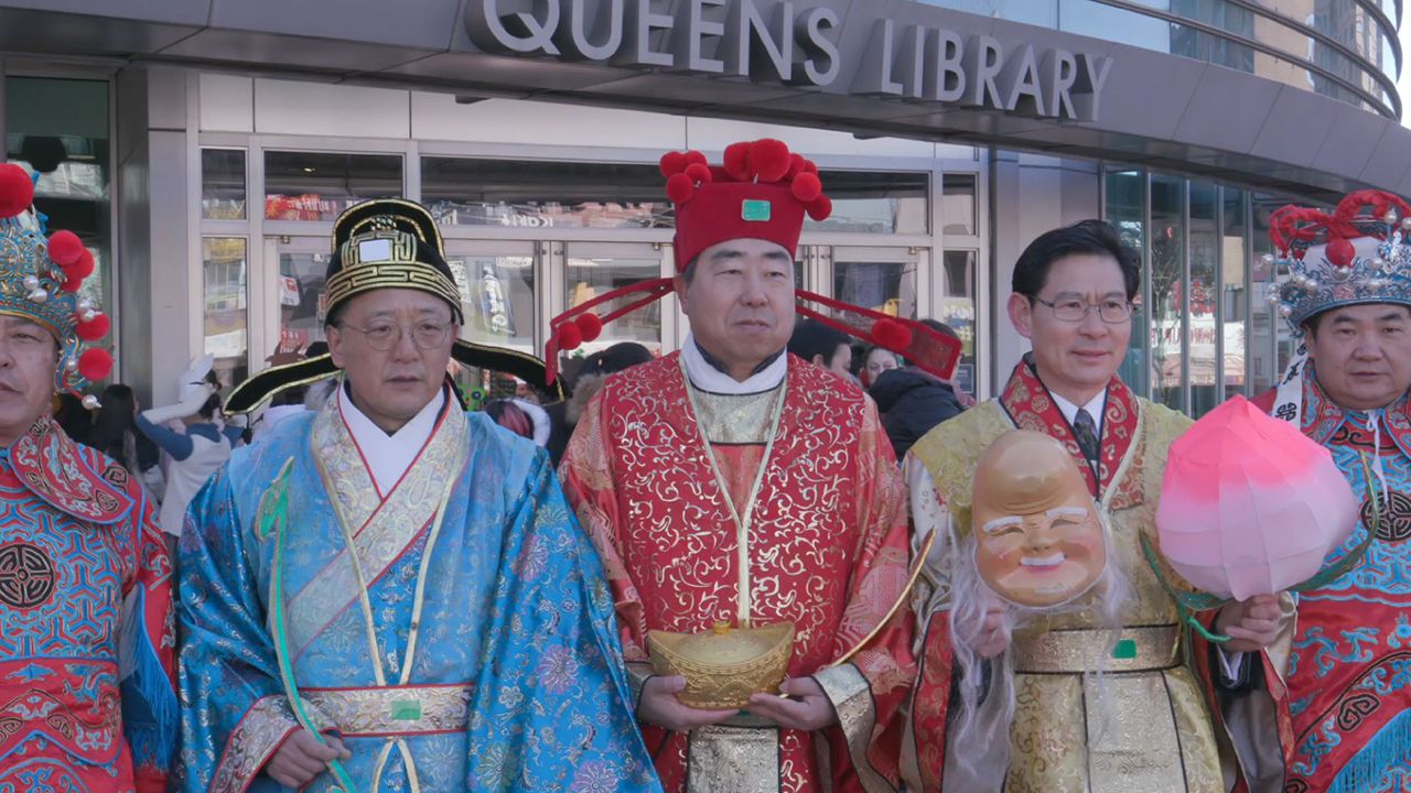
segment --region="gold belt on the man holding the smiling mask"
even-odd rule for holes
[[[1015,672],[1079,674],[1171,669],[1180,663],[1180,638],[1177,625],[1123,628],[1116,636],[1098,628],[1015,636]]]

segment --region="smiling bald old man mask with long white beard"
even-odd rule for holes
[[[1062,605],[1092,588],[1108,564],[1098,508],[1077,463],[1053,437],[1013,430],[975,470],[975,567],[1016,605]]]

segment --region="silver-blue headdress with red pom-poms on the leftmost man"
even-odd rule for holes
[[[93,346],[107,336],[109,319],[79,293],[93,275],[93,254],[72,231],[45,238],[32,202],[32,178],[18,165],[0,164],[0,315],[52,333],[59,344],[55,389],[82,396],[83,388],[113,371],[113,356]],[[82,398],[97,406],[96,396]]]

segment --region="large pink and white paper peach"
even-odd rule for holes
[[[1171,444],[1156,525],[1187,581],[1247,600],[1314,577],[1357,509],[1326,449],[1235,396]]]

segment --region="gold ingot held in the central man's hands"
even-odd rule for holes
[[[680,674],[682,704],[703,710],[742,708],[756,691],[779,693],[793,658],[793,622],[731,628],[717,622],[700,634],[648,631],[646,648],[658,674]]]

